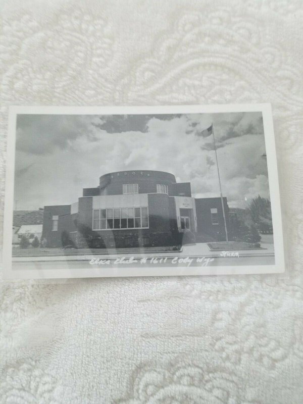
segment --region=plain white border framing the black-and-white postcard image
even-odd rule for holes
[[[199,114],[262,112],[271,197],[275,265],[209,266],[209,267],[121,267],[121,268],[58,268],[30,270],[12,269],[12,237],[14,206],[14,171],[16,118],[18,114],[50,115],[126,115],[126,114]],[[178,105],[138,107],[51,107],[12,106],[9,110],[7,164],[4,211],[3,276],[6,279],[50,279],[85,277],[176,276],[176,275],[236,275],[269,274],[285,271],[280,192],[275,137],[270,104]],[[92,256],[93,257],[93,256]],[[43,263],[41,263],[43,265]]]

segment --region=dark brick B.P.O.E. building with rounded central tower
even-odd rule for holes
[[[223,205],[228,229],[228,205]],[[46,246],[166,246],[225,240],[221,198],[194,198],[189,182],[162,171],[119,171],[71,205],[45,206]]]

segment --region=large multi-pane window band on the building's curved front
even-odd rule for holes
[[[92,229],[148,228],[148,208],[93,209]]]

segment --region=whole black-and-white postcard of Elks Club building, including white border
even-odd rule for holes
[[[14,107],[10,134],[7,277],[284,271],[270,106]]]

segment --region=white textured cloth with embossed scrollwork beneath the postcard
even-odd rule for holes
[[[301,1],[1,3],[2,198],[9,105],[271,102],[289,276],[3,282],[0,402],[301,404]]]

